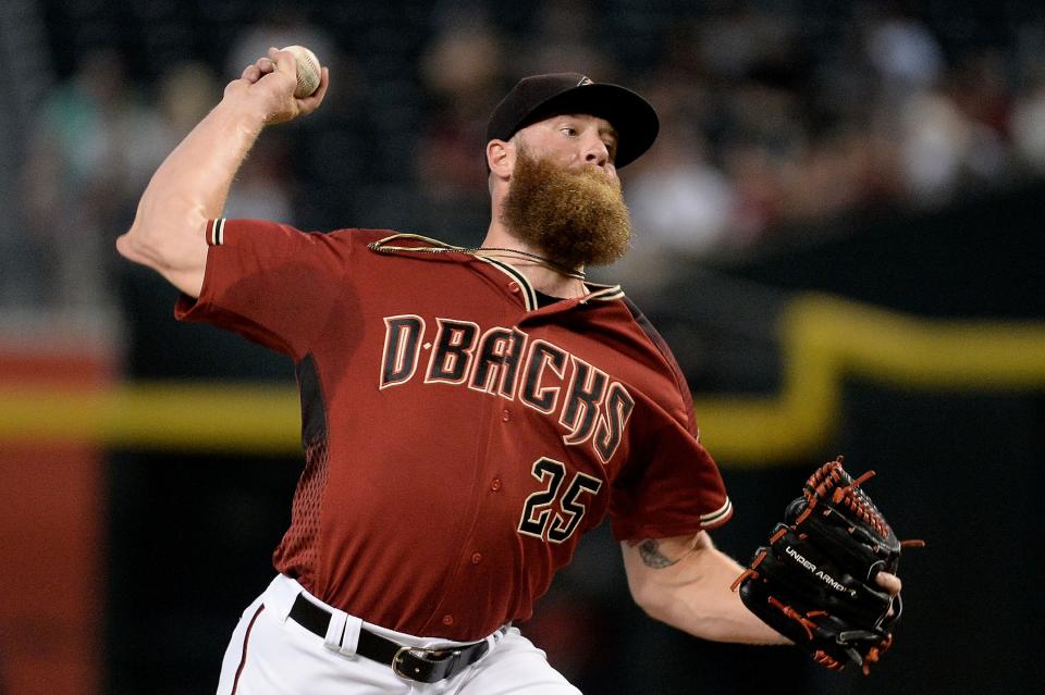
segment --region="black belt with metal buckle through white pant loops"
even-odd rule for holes
[[[294,599],[290,617],[309,632],[327,638],[330,611],[308,600],[304,594],[298,594]],[[409,647],[362,629],[359,631],[356,654],[389,665],[401,678],[419,683],[435,683],[460,673],[481,659],[489,649],[490,645],[485,641],[444,649]]]

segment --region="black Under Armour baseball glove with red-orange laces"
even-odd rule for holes
[[[892,646],[902,612],[899,595],[880,587],[875,575],[896,574],[900,549],[924,544],[898,541],[861,489],[874,471],[853,480],[841,463],[838,457],[809,477],[733,589],[816,662],[837,671],[856,665],[868,673]]]

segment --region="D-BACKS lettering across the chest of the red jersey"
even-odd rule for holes
[[[431,350],[426,384],[467,386],[557,415],[566,431],[563,442],[590,442],[602,462],[610,462],[635,409],[635,399],[623,384],[558,346],[531,340],[518,328],[483,331],[471,321],[454,319],[435,319],[435,335],[430,337],[421,317],[384,319],[380,388],[413,380],[423,347]]]

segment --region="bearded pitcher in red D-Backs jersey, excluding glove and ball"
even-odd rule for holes
[[[222,219],[267,125],[316,110],[271,49],[145,190],[118,248],[181,291],[176,317],[288,356],[306,464],[275,579],[218,692],[577,693],[525,620],[606,516],[635,599],[694,635],[785,643],[706,531],[732,507],[671,351],[585,268],[624,253],[616,170],[653,142],[641,97],[528,77],[496,107],[481,246]]]

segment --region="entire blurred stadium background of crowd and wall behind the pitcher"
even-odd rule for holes
[[[9,0],[0,9],[0,693],[213,691],[300,470],[291,365],[202,326],[112,240],[270,45],[328,103],[266,133],[235,214],[484,228],[485,115],[520,75],[634,86],[605,271],[673,345],[746,559],[811,466],[873,468],[908,609],[870,678],[713,645],[627,597],[605,529],[521,625],[586,693],[1040,690],[1045,20],[1036,3]],[[27,78],[29,76],[29,78]]]

